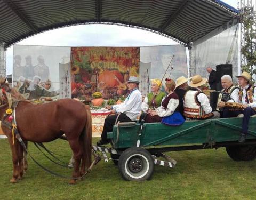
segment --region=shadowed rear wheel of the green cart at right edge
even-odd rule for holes
[[[256,145],[229,146],[226,151],[234,161],[252,161],[256,158]]]

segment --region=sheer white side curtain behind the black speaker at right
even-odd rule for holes
[[[234,23],[227,23],[193,44],[190,76],[199,74],[207,78],[209,76],[207,67],[215,69],[220,64],[232,64],[235,78],[240,67],[238,63],[239,26]]]

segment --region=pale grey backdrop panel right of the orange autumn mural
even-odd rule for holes
[[[173,61],[171,62],[172,57]],[[167,69],[168,66],[169,68]],[[172,70],[171,67],[173,68]],[[166,69],[167,72],[164,76]],[[147,73],[149,74],[149,79],[163,78],[163,84],[165,84],[164,80],[167,77],[173,79],[177,79],[180,76],[188,77],[185,46],[166,45],[140,47],[140,91],[142,95],[146,95],[150,92]]]

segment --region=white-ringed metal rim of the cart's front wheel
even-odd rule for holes
[[[140,179],[144,177],[148,171],[148,159],[141,154],[133,154],[125,161],[125,173],[133,179]]]

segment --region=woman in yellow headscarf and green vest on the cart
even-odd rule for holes
[[[146,119],[145,115],[148,110],[156,109],[161,106],[161,102],[166,96],[166,93],[160,90],[161,86],[162,83],[160,79],[151,79],[151,92],[148,93],[147,97],[142,101],[141,107],[143,113],[140,115],[140,121],[141,119]]]

